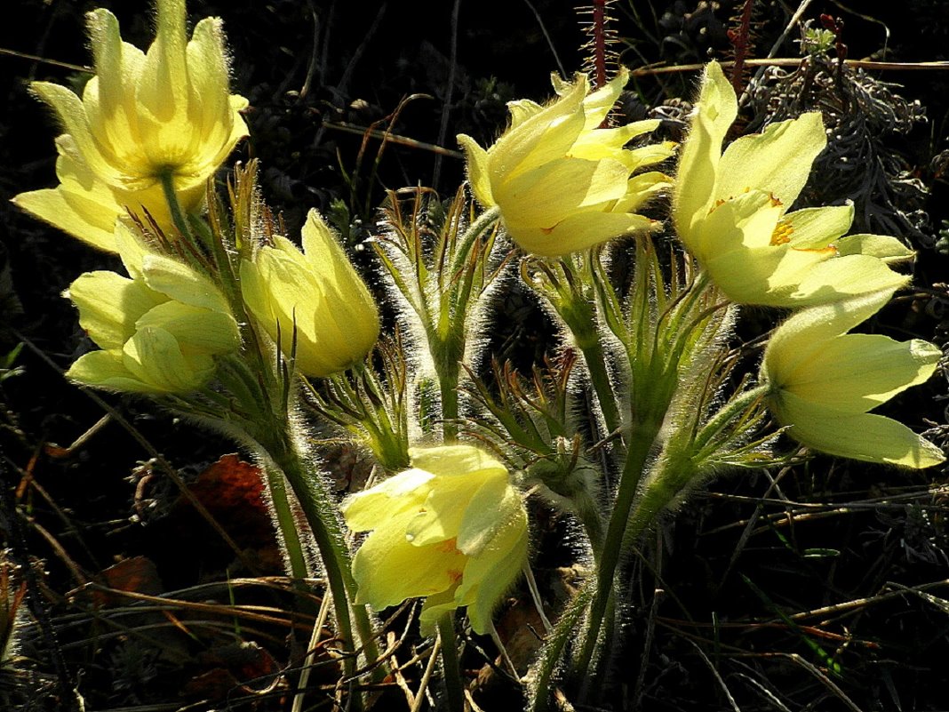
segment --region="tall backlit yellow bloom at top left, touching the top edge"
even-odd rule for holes
[[[61,184],[14,202],[116,252],[108,223],[125,208],[171,224],[162,176],[171,178],[185,211],[201,205],[208,178],[247,136],[238,113],[247,100],[229,93],[220,19],[201,20],[188,41],[184,0],[158,0],[158,32],[147,53],[122,42],[108,10],[86,17],[96,76],[82,99],[59,84],[32,84],[65,129],[57,142]]]

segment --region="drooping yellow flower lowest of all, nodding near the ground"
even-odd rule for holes
[[[346,523],[371,531],[353,559],[357,603],[374,609],[424,596],[422,633],[467,606],[492,628],[494,606],[528,553],[528,515],[503,464],[470,445],[414,448],[413,469],[343,503]]]

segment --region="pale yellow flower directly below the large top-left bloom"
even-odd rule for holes
[[[86,272],[65,296],[101,347],[66,375],[87,385],[133,393],[184,393],[207,383],[214,355],[240,345],[224,295],[190,267],[149,253],[121,222],[116,242],[131,278]]]

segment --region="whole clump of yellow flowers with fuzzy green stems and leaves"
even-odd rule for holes
[[[400,325],[388,338],[323,217],[307,215],[302,249],[277,234],[255,165],[235,171],[233,220],[219,199],[201,215],[209,180],[247,135],[220,21],[202,20],[189,40],[184,0],[158,0],[147,52],[122,42],[107,10],[88,24],[96,76],[82,98],[32,85],[64,127],[60,183],[14,198],[118,253],[128,272],[88,272],[65,292],[100,347],[67,375],[162,397],[253,449],[288,569],[304,581],[313,571],[290,483],[326,564],[349,679],[360,654],[364,669],[380,667],[366,606],[424,598],[421,632],[437,628],[445,647],[457,609],[476,633],[493,632],[493,609],[528,566],[522,482],[586,529],[596,578],[562,620],[586,625],[574,677],[589,665],[595,681],[611,658],[598,648],[629,609],[616,599],[630,587],[614,577],[630,542],[722,465],[780,461],[781,433],[851,459],[944,460],[934,443],[870,412],[925,382],[940,349],[850,333],[909,282],[893,265],[912,251],[888,235],[847,234],[849,204],[794,209],[827,143],[820,114],[725,145],[738,104],[711,63],[673,179],[660,170],[673,143],[630,147],[658,121],[609,121],[626,70],[595,89],[584,75],[555,77],[557,98],[511,103],[511,125],[489,148],[458,136],[474,198],[459,190],[422,216],[419,197],[400,221],[400,193],[391,194],[377,243]],[[680,243],[668,259],[653,234],[661,223],[641,212],[667,189]],[[478,372],[492,341],[485,316],[516,260],[569,345],[559,365],[534,365],[530,384],[507,365],[493,379]],[[623,290],[616,264],[631,266]],[[791,310],[745,378],[734,377],[738,305]],[[401,471],[339,505],[313,472],[299,416],[308,405],[366,434],[380,470]],[[355,553],[342,520],[368,533]],[[558,628],[534,694],[549,689],[568,645]]]

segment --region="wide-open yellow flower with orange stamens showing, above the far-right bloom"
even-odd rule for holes
[[[896,289],[886,262],[911,257],[894,237],[849,235],[852,205],[788,213],[827,144],[819,113],[772,123],[721,151],[737,114],[713,62],[679,157],[673,219],[679,238],[729,299],[801,307]]]

